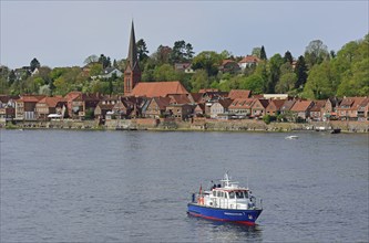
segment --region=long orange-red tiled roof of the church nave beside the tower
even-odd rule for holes
[[[132,96],[165,97],[167,95],[188,94],[180,81],[171,82],[140,82],[132,89]]]

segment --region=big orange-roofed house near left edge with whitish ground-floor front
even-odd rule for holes
[[[35,120],[35,105],[44,95],[22,95],[16,99],[16,120]]]

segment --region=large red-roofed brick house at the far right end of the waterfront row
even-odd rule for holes
[[[344,97],[337,106],[337,118],[341,120],[358,120],[358,109],[367,97]],[[360,108],[360,115],[365,115],[365,108]]]

